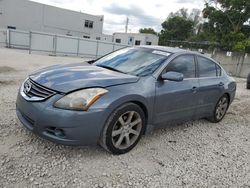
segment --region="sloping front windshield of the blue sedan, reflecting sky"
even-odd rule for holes
[[[147,48],[125,48],[113,52],[95,62],[104,67],[136,76],[152,74],[171,53]]]

